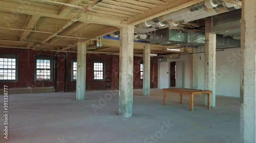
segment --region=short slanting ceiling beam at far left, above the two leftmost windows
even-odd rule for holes
[[[28,22],[26,23],[24,29],[25,30],[32,30],[36,24],[36,22],[39,20],[40,16],[30,16],[28,19]],[[22,35],[20,36],[19,41],[26,41],[27,37],[29,36],[30,31],[23,31]]]

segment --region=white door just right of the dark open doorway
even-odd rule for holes
[[[183,61],[176,61],[176,88],[183,88]]]

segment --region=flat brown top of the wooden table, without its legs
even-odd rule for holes
[[[211,91],[206,90],[196,90],[196,89],[184,89],[184,88],[170,88],[170,89],[163,89],[163,91],[168,92],[177,92],[177,93],[185,93],[185,94],[211,94]]]

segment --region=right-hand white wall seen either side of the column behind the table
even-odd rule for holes
[[[200,48],[198,48],[200,52]],[[204,51],[204,48],[202,48]],[[200,60],[201,55],[201,60]],[[240,48],[216,52],[216,95],[240,97]],[[204,53],[198,53],[198,89],[204,89]]]

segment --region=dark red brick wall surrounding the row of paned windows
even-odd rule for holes
[[[76,81],[71,81],[71,64],[72,60],[76,60],[76,53],[66,54],[63,52],[56,53],[50,51],[0,48],[0,54],[1,53],[16,54],[18,56],[18,81],[0,81],[0,89],[2,89],[6,84],[8,84],[8,87],[10,88],[54,87],[54,81],[56,81],[57,92],[76,91]],[[35,57],[37,55],[47,55],[52,57],[52,81],[34,81]],[[95,81],[93,79],[94,60],[105,62],[105,81]],[[143,88],[143,80],[140,79],[141,61],[143,61],[143,58],[136,56],[134,57],[134,89]],[[158,64],[152,63],[151,65],[151,87],[157,88]],[[54,67],[56,67],[56,71]],[[54,80],[55,74],[57,75],[56,80]],[[109,89],[117,90],[119,85],[119,56],[87,54],[86,81],[86,89],[88,91]]]

